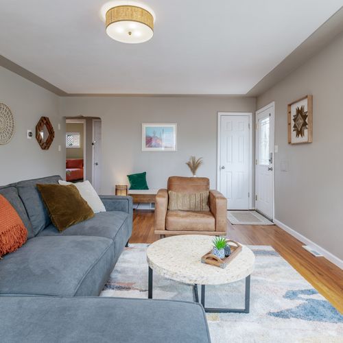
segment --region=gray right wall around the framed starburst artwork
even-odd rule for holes
[[[287,143],[287,104],[312,94],[313,143]],[[275,101],[275,217],[343,259],[343,34],[257,99]],[[281,171],[280,164],[288,165]]]

